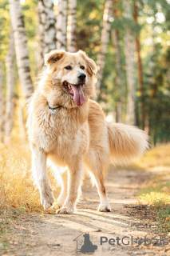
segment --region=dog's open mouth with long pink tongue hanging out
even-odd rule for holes
[[[63,85],[65,86],[65,90],[71,94],[73,97],[74,102],[76,103],[77,106],[83,105],[85,103],[85,96],[83,94],[82,86],[83,83],[79,83],[77,85],[73,85],[69,82],[63,82]]]

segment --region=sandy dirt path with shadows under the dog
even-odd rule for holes
[[[82,188],[81,202],[75,214],[45,214],[22,218],[16,223],[11,235],[10,247],[6,255],[59,256],[81,254],[83,234],[88,233],[93,245],[97,245],[94,255],[168,255],[168,246],[140,245],[138,238],[160,238],[154,217],[147,208],[137,204],[135,195],[141,184],[151,174],[133,170],[114,170],[108,175],[106,190],[111,202],[112,212],[99,213],[96,208],[99,198],[95,187],[86,179]],[[79,236],[80,235],[80,236]],[[77,238],[79,236],[79,238]],[[125,246],[100,244],[101,237],[125,238]],[[133,238],[132,238],[133,237]],[[77,238],[77,242],[73,241]],[[106,238],[102,238],[103,240]],[[163,238],[164,235],[163,235]],[[116,241],[116,240],[115,240]],[[111,243],[113,240],[111,240]],[[116,241],[117,242],[117,241]],[[169,249],[169,250],[168,250]]]

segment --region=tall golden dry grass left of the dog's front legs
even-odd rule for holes
[[[17,210],[22,214],[44,211],[40,194],[31,178],[30,146],[0,146],[0,212]]]

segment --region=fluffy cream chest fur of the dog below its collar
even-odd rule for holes
[[[88,122],[80,124],[76,115],[65,110],[58,110],[55,116],[50,110],[43,111],[33,126],[34,143],[61,165],[89,147]]]

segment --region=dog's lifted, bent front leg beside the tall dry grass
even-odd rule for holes
[[[32,171],[34,180],[38,185],[41,195],[41,203],[44,209],[48,209],[53,205],[53,192],[49,185],[49,178],[46,174],[46,155],[44,150],[39,149],[38,146],[31,146],[32,150]]]

